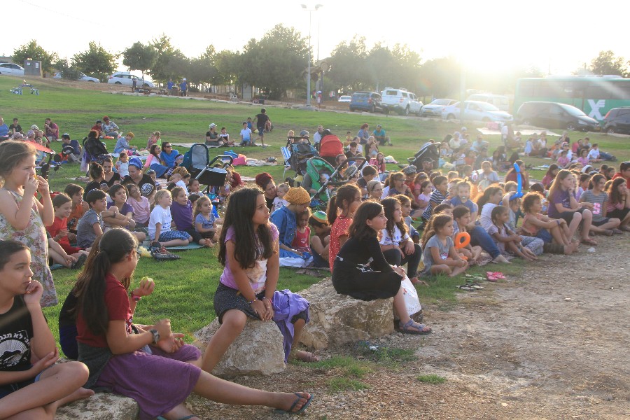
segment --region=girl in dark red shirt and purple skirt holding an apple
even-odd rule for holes
[[[201,369],[200,351],[183,344],[171,322],[132,324],[137,300],[129,286],[138,264],[137,239],[124,229],[106,232],[92,248],[74,288],[79,360],[90,369],[86,387],[109,388],[133,398],[140,419],[197,419],[185,401],[195,392],[235,405],[266,405],[302,412],[309,393],[258,391],[218,379]]]

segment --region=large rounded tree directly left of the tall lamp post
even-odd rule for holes
[[[286,96],[286,90],[301,87],[307,67],[308,44],[295,28],[276,25],[260,41],[251,39],[239,59],[239,80],[261,87],[272,99]]]

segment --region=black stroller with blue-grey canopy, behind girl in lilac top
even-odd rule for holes
[[[184,154],[181,165],[186,168],[190,176],[199,180],[202,186],[206,186],[204,193],[208,194],[213,200],[211,195],[215,196],[214,199],[217,198],[217,195],[216,192],[211,190],[218,190],[218,188],[225,185],[225,177],[228,174],[225,168],[232,165],[234,158],[229,155],[218,155],[213,160],[210,160],[208,152],[208,146],[203,143],[195,143]],[[213,167],[218,160],[221,160],[220,167]]]

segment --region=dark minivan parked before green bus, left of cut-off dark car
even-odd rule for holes
[[[517,111],[516,121],[517,124],[548,129],[584,132],[600,130],[597,120],[587,116],[581,109],[558,102],[525,102]]]

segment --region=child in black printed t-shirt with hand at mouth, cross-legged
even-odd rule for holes
[[[54,365],[59,351],[39,304],[43,288],[31,281],[30,264],[24,244],[0,241],[0,415],[52,419],[57,407],[94,391],[81,388],[87,381],[83,363]]]

